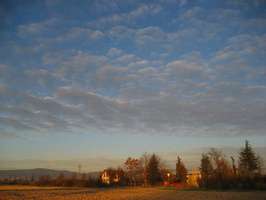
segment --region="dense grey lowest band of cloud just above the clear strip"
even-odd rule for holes
[[[24,94],[24,110],[19,110],[15,105],[1,109],[2,113],[16,117],[17,120],[1,118],[1,123],[10,128],[31,130],[32,126],[42,131],[85,131],[94,128],[109,133],[127,130],[129,133],[145,131],[178,135],[238,135],[254,131],[263,134],[266,128],[263,114],[266,111],[265,103],[232,103],[237,101],[229,101],[224,93],[229,91],[231,97],[231,88],[223,88],[223,93],[219,90],[209,91],[187,102],[166,94],[148,95],[145,91],[143,93],[146,96],[139,94],[143,97],[142,101],[130,100],[137,91],[131,91],[130,98],[125,101],[74,88],[61,88],[53,98],[36,98]],[[265,88],[249,87],[243,90],[242,95],[256,95]],[[225,94],[223,98],[220,97],[222,94]],[[235,96],[240,98],[240,94]],[[21,98],[20,95],[18,97]]]

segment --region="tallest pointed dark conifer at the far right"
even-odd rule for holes
[[[250,176],[259,170],[259,157],[255,154],[249,142],[239,153],[239,172],[242,176]]]

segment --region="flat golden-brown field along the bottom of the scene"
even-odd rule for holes
[[[0,186],[0,200],[266,200],[266,192],[176,191],[160,188],[87,189]]]

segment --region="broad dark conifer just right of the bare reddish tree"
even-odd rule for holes
[[[151,185],[162,181],[159,164],[160,159],[155,154],[152,154],[147,167],[148,181]]]

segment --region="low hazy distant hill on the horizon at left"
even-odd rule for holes
[[[18,170],[0,170],[0,179],[4,178],[32,178],[38,179],[40,176],[49,175],[51,178],[55,178],[60,174],[64,174],[65,177],[71,177],[76,172],[66,171],[66,170],[53,170],[53,169],[18,169]],[[99,175],[99,172],[90,172],[86,173],[87,175],[96,178]]]

